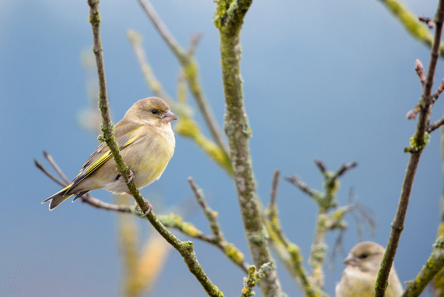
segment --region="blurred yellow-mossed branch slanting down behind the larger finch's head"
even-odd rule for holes
[[[148,60],[145,55],[145,51],[142,47],[142,37],[140,34],[129,30],[127,32],[128,38],[136,53],[137,60],[147,82],[148,87],[154,93],[154,95],[165,99],[170,105],[171,109],[179,116],[177,124],[174,126],[174,130],[180,135],[191,139],[198,148],[200,148],[213,162],[221,166],[229,175],[233,175],[233,169],[228,154],[224,151],[223,147],[217,143],[205,137],[202,133],[199,124],[193,119],[191,108],[185,104],[185,92],[181,92],[179,103],[174,101],[162,87],[162,84],[155,77],[151,66],[148,65]],[[193,39],[194,40],[194,39]],[[194,41],[195,42],[195,41]],[[191,45],[190,45],[191,46]],[[192,45],[192,47],[194,47]],[[185,75],[185,71],[181,71]],[[178,83],[178,90],[183,88],[181,83]]]

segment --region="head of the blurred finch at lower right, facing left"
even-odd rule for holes
[[[358,267],[361,271],[375,272],[379,271],[382,257],[385,249],[377,243],[363,241],[355,245],[343,263]]]

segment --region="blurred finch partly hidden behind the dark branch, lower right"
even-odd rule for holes
[[[374,285],[385,249],[377,243],[363,241],[355,245],[344,259],[347,264],[336,285],[336,297],[373,297]],[[392,266],[386,297],[400,297],[403,287]]]

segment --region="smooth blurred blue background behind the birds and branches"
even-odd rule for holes
[[[437,2],[406,3],[415,14],[433,16]],[[153,0],[153,5],[185,48],[192,33],[202,33],[196,57],[205,94],[222,125],[219,36],[212,24],[215,3]],[[132,103],[151,96],[127,40],[128,29],[142,33],[155,75],[174,96],[178,63],[137,1],[104,0],[100,12],[114,122]],[[86,1],[0,0],[0,283],[16,268],[28,268],[21,296],[119,295],[115,214],[79,200],[49,212],[48,204],[40,202],[59,187],[33,164],[34,158],[44,163],[41,151],[47,150],[74,178],[98,145],[96,136],[77,121],[78,112],[89,106],[80,58],[92,48],[88,13]],[[360,203],[373,209],[377,220],[376,236],[371,238],[366,232],[364,239],[385,245],[408,160],[403,149],[416,127],[415,121],[405,117],[421,94],[414,61],[420,59],[427,66],[430,50],[409,36],[377,0],[255,0],[241,41],[245,105],[253,130],[250,145],[260,197],[268,200],[276,168],[283,176],[297,174],[320,189],[322,178],[314,158],[331,170],[356,161],[358,167],[341,178],[339,203],[347,202],[353,187]],[[443,76],[440,60],[435,81]],[[441,117],[443,109],[439,99],[432,121]],[[233,183],[190,141],[177,137],[175,155],[164,174],[142,194],[161,196],[161,201],[150,200],[154,211],[168,212],[191,197],[188,176],[194,177],[219,212],[227,240],[248,254]],[[442,191],[437,131],[418,167],[395,258],[402,281],[412,279],[430,255]],[[92,194],[111,201],[106,191]],[[283,180],[278,204],[287,236],[301,247],[306,261],[316,206]],[[187,220],[209,233],[200,211]],[[347,221],[346,252],[357,243],[355,223],[351,216]],[[140,224],[141,236],[147,237],[151,227],[142,220]],[[327,236],[330,247],[336,235]],[[193,241],[210,279],[225,296],[239,296],[240,269],[219,250]],[[332,295],[344,267],[341,260],[342,256],[336,259],[334,273],[326,273],[326,290]],[[289,296],[302,295],[280,265],[278,274]],[[259,289],[256,292],[261,296]],[[0,296],[6,294],[0,288]],[[152,296],[178,295],[206,296],[173,251]]]

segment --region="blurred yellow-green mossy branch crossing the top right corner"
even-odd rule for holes
[[[432,47],[433,34],[427,26],[418,20],[418,16],[414,15],[407,6],[399,0],[379,0],[387,9],[393,13],[396,18],[405,27],[408,33],[418,39],[420,42],[428,47]],[[444,57],[444,45],[440,45],[439,53]]]

